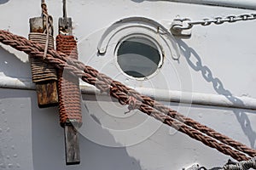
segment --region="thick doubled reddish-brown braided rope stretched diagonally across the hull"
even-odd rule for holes
[[[35,58],[44,57],[43,45],[28,41],[25,37],[15,36],[8,31],[0,31],[0,42],[23,51],[26,54],[31,54]],[[176,128],[178,131],[186,133],[189,137],[197,139],[203,144],[207,144],[208,146],[221,151],[225,155],[233,157],[237,161],[247,161],[249,159],[244,154],[241,154],[241,152],[247,153],[248,155],[256,154],[256,150],[250,149],[246,145],[238,143],[233,139],[229,139],[228,137],[215,132],[213,129],[201,125],[199,122],[195,122],[188,117],[182,116],[177,113],[177,111],[173,111],[153,99],[138,94],[135,90],[125,87],[125,85],[120,82],[113,81],[106,75],[99,73],[95,69],[84,65],[76,59],[68,59],[66,54],[58,53],[54,49],[48,49],[48,54],[44,60],[55,65],[58,69],[65,68],[65,70],[70,71],[73,76],[80,77],[84,82],[88,82],[96,86],[96,88],[99,88],[102,92],[106,92],[119,99],[120,104],[131,105],[131,108],[139,109],[149,116],[154,116],[154,118]],[[134,102],[134,99],[133,101],[130,101],[131,97],[135,98],[136,102]],[[161,112],[156,111],[155,109],[160,110]],[[172,116],[174,117],[172,118]],[[176,118],[177,121],[174,120],[174,118]],[[185,125],[185,123],[187,125]],[[193,125],[193,123],[195,123],[196,126]],[[193,129],[191,127],[198,129]],[[201,133],[199,131],[201,131]],[[209,133],[212,135],[209,136],[214,139],[219,139],[220,142],[223,142],[222,140],[224,140],[224,142],[229,143],[229,145],[237,150],[241,150],[241,152],[232,150],[230,146],[225,145],[224,142],[224,144],[218,143],[216,140],[207,137],[202,133],[206,133],[207,135]],[[215,134],[219,134],[219,136],[215,136]],[[243,148],[246,150],[242,150]]]

